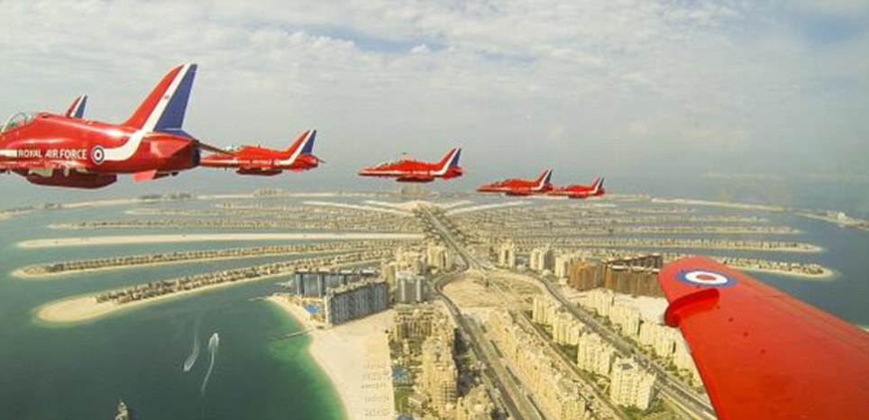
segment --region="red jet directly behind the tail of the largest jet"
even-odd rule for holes
[[[202,158],[200,166],[207,168],[236,169],[239,175],[273,176],[284,170],[301,172],[315,169],[321,162],[312,153],[316,130],[306,130],[290,145],[287,151],[275,151],[259,146],[242,146],[226,153],[216,153]]]

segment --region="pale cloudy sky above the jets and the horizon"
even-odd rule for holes
[[[283,147],[316,127],[325,176],[453,145],[475,180],[544,167],[564,182],[869,174],[861,0],[0,9],[0,114],[59,111],[87,93],[90,118],[121,121],[169,68],[197,62],[188,132]]]

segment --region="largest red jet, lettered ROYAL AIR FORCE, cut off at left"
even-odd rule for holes
[[[142,181],[195,168],[200,150],[219,151],[181,129],[196,70],[196,64],[173,68],[120,124],[82,119],[84,97],[64,115],[14,114],[0,128],[0,173],[38,185],[98,188],[122,174]]]

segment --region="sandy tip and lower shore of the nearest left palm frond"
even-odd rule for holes
[[[224,283],[218,283],[202,288],[195,288],[192,290],[186,290],[178,293],[169,293],[168,295],[161,295],[159,297],[151,297],[148,299],[137,300],[135,302],[129,302],[123,305],[114,302],[97,303],[96,298],[94,297],[96,295],[103,294],[109,291],[104,290],[100,292],[89,293],[87,294],[87,296],[66,297],[63,299],[55,300],[53,302],[49,302],[48,304],[37,308],[36,316],[39,318],[40,321],[50,324],[85,323],[94,321],[107,315],[112,315],[123,311],[129,311],[143,306],[158,304],[161,302],[169,301],[171,299],[189,297],[191,295],[196,295],[198,293],[203,293],[218,288],[229,288],[232,286],[252,283],[254,281],[261,281],[268,278],[278,278],[287,275],[288,273],[280,273],[271,276],[247,278],[239,281],[227,281]]]

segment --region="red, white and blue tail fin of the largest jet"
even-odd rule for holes
[[[172,68],[123,125],[142,132],[167,132],[189,137],[181,130],[181,125],[196,74],[196,64]]]

